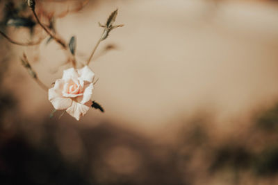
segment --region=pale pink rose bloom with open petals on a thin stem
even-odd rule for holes
[[[76,118],[84,116],[92,105],[92,80],[95,76],[88,66],[82,69],[64,70],[63,78],[55,82],[49,89],[49,100],[57,110],[66,112]]]

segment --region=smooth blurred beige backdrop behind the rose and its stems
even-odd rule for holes
[[[275,4],[90,1],[80,12],[57,21],[58,33],[65,39],[76,35],[80,62],[88,58],[101,33],[97,22],[104,23],[115,8],[119,8],[116,23],[125,26],[113,30],[98,53],[106,44],[116,44],[117,49],[90,64],[99,77],[93,98],[106,113],[90,110],[76,124],[95,126],[111,120],[152,135],[175,130],[186,118],[205,112],[215,116],[221,129],[229,130],[235,126],[233,120],[248,118],[277,99]],[[69,67],[54,73],[64,60],[55,42],[25,51],[32,59],[39,57],[33,67],[47,85]],[[21,67],[21,48],[15,46],[11,52],[15,61],[7,87],[16,89],[23,114],[47,116],[52,109],[47,94]]]

